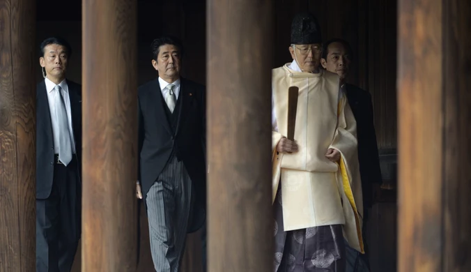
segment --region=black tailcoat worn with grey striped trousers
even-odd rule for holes
[[[176,107],[180,113],[173,132],[159,80],[138,89],[139,100],[139,180],[143,197],[164,169],[172,151],[183,161],[196,191],[196,202],[206,204],[206,95],[205,87],[180,79]]]

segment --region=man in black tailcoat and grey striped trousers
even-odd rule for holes
[[[206,96],[180,77],[183,47],[169,36],[152,43],[158,77],[139,87],[139,181],[157,272],[175,272],[187,232],[205,222]]]

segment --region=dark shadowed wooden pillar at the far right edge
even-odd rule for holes
[[[445,252],[442,271],[471,271],[471,2],[443,1]]]

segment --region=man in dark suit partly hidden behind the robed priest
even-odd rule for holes
[[[357,121],[358,161],[360,163],[364,202],[363,232],[365,232],[368,209],[373,205],[373,192],[379,191],[382,177],[373,123],[371,95],[368,91],[346,82],[350,71],[351,53],[350,45],[346,40],[329,40],[323,47],[321,64],[326,70],[339,75],[341,89],[346,92],[348,104]],[[363,235],[363,240],[365,241],[365,239],[366,236]],[[367,255],[360,255],[356,250],[347,246],[346,271],[369,271]]]

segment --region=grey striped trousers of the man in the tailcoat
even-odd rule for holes
[[[192,181],[172,156],[146,195],[150,252],[157,272],[178,272],[194,197]]]

